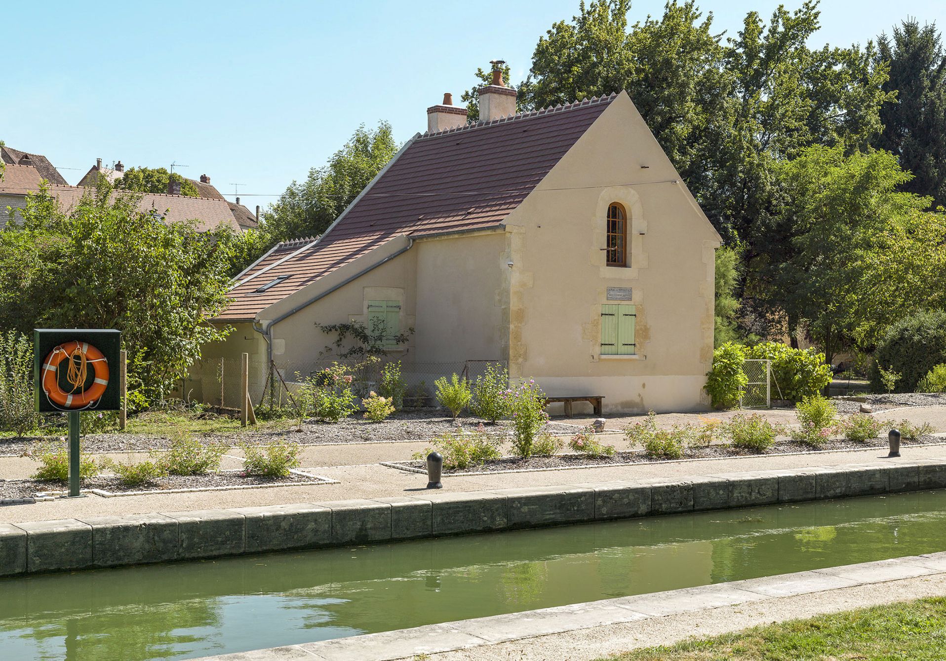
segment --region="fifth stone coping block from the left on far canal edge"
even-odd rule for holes
[[[317,548],[331,542],[332,511],[322,505],[265,505],[230,511],[245,519],[247,553]]]

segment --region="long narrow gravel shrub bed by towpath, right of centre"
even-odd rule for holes
[[[919,440],[903,439],[902,446],[925,445],[943,443],[937,436],[922,436]],[[444,475],[467,475],[471,473],[497,473],[503,471],[548,470],[550,468],[583,468],[607,467],[628,463],[661,463],[664,461],[683,461],[688,459],[727,459],[730,457],[750,457],[760,455],[781,455],[796,452],[831,452],[832,450],[864,450],[871,447],[887,447],[886,439],[876,438],[865,443],[855,443],[844,439],[832,439],[821,446],[814,448],[810,445],[797,443],[791,440],[777,441],[771,449],[765,452],[732,447],[727,444],[714,444],[697,447],[688,447],[683,450],[683,457],[679,460],[659,460],[648,457],[643,450],[624,450],[616,452],[610,457],[588,457],[583,454],[561,454],[553,456],[533,456],[527,459],[518,457],[502,457],[488,460],[482,465],[469,466],[462,469],[444,469]],[[384,461],[382,465],[412,472],[427,473],[427,461]]]

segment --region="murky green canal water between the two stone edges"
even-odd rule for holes
[[[183,659],[946,550],[946,492],[0,580],[0,659]]]

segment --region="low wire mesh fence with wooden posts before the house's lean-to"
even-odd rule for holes
[[[382,357],[379,361],[363,358],[336,358],[313,360],[273,360],[251,357],[248,371],[248,391],[254,406],[294,406],[293,394],[307,381],[330,368],[342,364],[353,376],[352,390],[359,398],[377,390],[384,366],[400,363],[401,378],[407,386],[404,396],[406,408],[433,406],[434,382],[451,374],[475,381],[485,372],[487,365],[506,368],[504,360],[457,360],[447,362],[424,362]],[[197,401],[221,409],[240,409],[242,390],[242,365],[240,358],[204,359],[196,364],[182,384],[181,396],[188,401]]]

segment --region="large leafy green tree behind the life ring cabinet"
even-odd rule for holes
[[[117,328],[131,387],[161,398],[229,328],[208,323],[228,303],[225,231],[166,223],[133,193],[91,189],[69,213],[42,187],[23,223],[0,230],[0,328]]]

